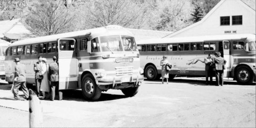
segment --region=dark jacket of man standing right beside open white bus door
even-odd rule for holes
[[[59,81],[59,66],[56,62],[52,62],[49,64],[49,75],[48,80],[51,82]]]

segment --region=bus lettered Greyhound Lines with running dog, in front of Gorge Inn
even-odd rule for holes
[[[255,34],[234,34],[154,38],[140,40],[137,45],[140,64],[148,80],[160,78],[163,55],[172,64],[169,79],[173,79],[176,75],[205,76],[204,58],[220,52],[227,60],[224,77],[251,84],[256,75],[255,37]]]

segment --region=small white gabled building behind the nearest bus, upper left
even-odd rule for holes
[[[18,40],[35,37],[21,19],[0,21],[0,39],[13,43]]]

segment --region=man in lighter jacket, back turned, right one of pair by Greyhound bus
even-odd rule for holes
[[[215,63],[215,76],[216,76],[216,86],[222,85],[223,86],[223,74],[224,74],[224,64],[226,64],[226,60],[221,57],[220,52],[214,53],[215,57],[214,58],[214,63]]]

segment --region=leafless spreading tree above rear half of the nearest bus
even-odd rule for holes
[[[38,0],[26,18],[30,30],[39,36],[67,32],[71,20],[62,0]]]

